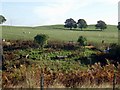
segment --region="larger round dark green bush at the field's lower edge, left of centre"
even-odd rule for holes
[[[48,38],[49,37],[45,34],[38,34],[34,37],[34,41],[37,42],[40,45],[41,48],[43,48],[44,45],[47,44],[47,39]]]

